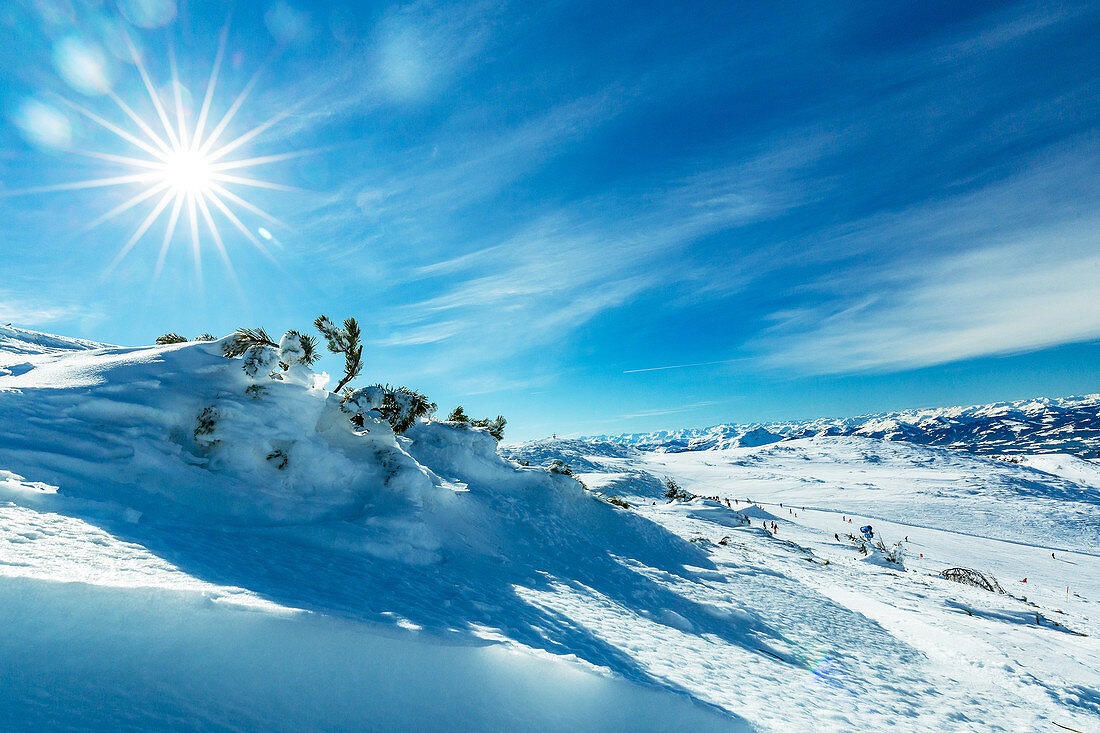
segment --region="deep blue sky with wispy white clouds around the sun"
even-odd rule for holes
[[[127,39],[194,129],[227,15],[0,9],[0,321],[355,316],[365,380],[509,439],[1098,391],[1094,3],[238,2],[207,131],[248,90],[278,188],[224,187],[277,223],[116,264],[151,184],[50,187],[132,173],[118,100],[160,130]]]

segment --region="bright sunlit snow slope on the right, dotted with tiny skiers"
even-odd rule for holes
[[[1047,461],[1036,470],[1016,457],[1010,462],[861,437],[638,451],[628,461],[616,444],[590,444],[587,450],[574,444],[562,456],[583,455],[579,477],[591,489],[618,495],[708,549],[719,570],[711,577],[716,592],[757,610],[771,606],[765,615],[782,619],[789,633],[802,623],[821,624],[823,636],[803,647],[810,670],[803,679],[822,705],[821,718],[789,730],[861,727],[833,718],[842,698],[869,713],[887,705],[893,730],[1060,730],[1052,723],[1100,730],[1100,486],[1080,475],[1057,477]],[[507,452],[556,457],[552,441],[537,445],[536,451],[519,446]],[[613,449],[602,457],[608,445]],[[634,479],[624,481],[624,471]],[[657,477],[698,497],[663,500],[651,488]],[[903,566],[854,550],[846,535],[865,524],[888,545],[901,543]],[[1008,594],[938,577],[959,566],[992,573]],[[761,572],[774,575],[762,580]],[[796,600],[801,583],[821,593],[813,608]],[[881,638],[867,633],[868,621]],[[849,636],[848,623],[862,631]],[[836,636],[826,642],[828,634]],[[913,656],[887,661],[895,643]],[[865,665],[862,681],[838,670],[839,648]],[[920,685],[912,669],[944,675],[923,701],[911,697]],[[744,681],[721,667],[713,674],[726,675],[725,683]],[[938,687],[944,679],[952,681]],[[899,698],[864,698],[888,688]],[[937,718],[933,708],[945,715]]]

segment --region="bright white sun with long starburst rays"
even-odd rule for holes
[[[218,85],[218,76],[221,70],[222,61],[226,55],[226,41],[228,28],[222,30],[218,43],[218,52],[207,81],[206,94],[202,103],[194,122],[187,119],[186,107],[183,99],[183,87],[179,84],[179,75],[176,68],[174,54],[169,54],[169,69],[172,75],[172,99],[166,103],[162,99],[153,85],[153,80],[146,69],[141,54],[133,42],[127,37],[127,46],[133,59],[134,67],[141,76],[142,84],[155,111],[155,120],[148,121],[138,114],[130,105],[119,97],[114,91],[108,90],[106,94],[121,110],[129,122],[127,124],[136,128],[127,130],[120,124],[97,114],[92,110],[69,99],[62,98],[61,101],[76,113],[85,117],[100,128],[108,130],[117,138],[132,146],[130,155],[118,155],[101,151],[77,150],[73,151],[78,155],[91,157],[108,163],[119,165],[123,168],[120,175],[90,178],[74,183],[59,184],[55,186],[40,186],[36,188],[24,188],[21,190],[8,192],[7,195],[38,194],[48,192],[81,190],[89,188],[105,188],[113,186],[138,186],[140,190],[132,197],[122,201],[114,208],[106,211],[86,227],[94,229],[119,215],[129,211],[142,204],[147,204],[150,208],[146,216],[138,225],[133,233],[122,243],[118,253],[107,267],[111,272],[122,260],[138,245],[140,241],[157,225],[163,217],[167,217],[167,223],[161,239],[161,249],[156,260],[154,277],[158,276],[164,266],[168,249],[175,238],[176,230],[185,226],[189,233],[191,253],[195,260],[196,272],[201,277],[201,239],[204,230],[209,234],[218,254],[221,256],[230,274],[233,266],[229,252],[226,248],[224,239],[219,230],[216,214],[221,219],[228,221],[240,231],[260,252],[274,261],[268,249],[256,237],[255,233],[241,220],[239,211],[248,211],[277,227],[286,228],[282,221],[261,209],[255,204],[246,200],[241,195],[233,193],[228,186],[245,188],[266,188],[275,190],[297,190],[289,186],[271,183],[242,172],[258,165],[275,163],[309,154],[314,151],[295,151],[275,155],[264,155],[258,157],[233,157],[232,153],[239,151],[243,145],[253,141],[257,135],[268,130],[279,120],[284,119],[289,110],[280,111],[265,122],[252,128],[248,132],[230,140],[221,142],[226,130],[237,117],[242,105],[248,99],[249,94],[255,87],[263,66],[257,70],[241,92],[233,99],[232,103],[222,114],[220,120],[208,131],[211,122],[210,111],[213,101],[215,89]],[[170,109],[169,109],[170,107]],[[160,128],[160,129],[157,129]],[[257,231],[264,233],[265,239],[270,239],[267,230],[260,228]]]

